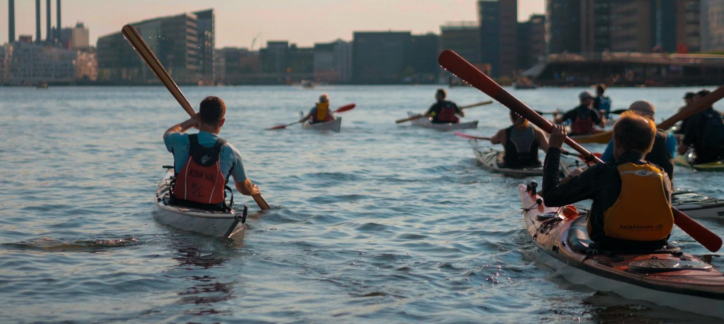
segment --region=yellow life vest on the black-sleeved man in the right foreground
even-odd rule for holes
[[[671,233],[674,216],[666,200],[661,170],[650,164],[618,166],[621,193],[603,213],[606,236],[628,241],[657,241]]]

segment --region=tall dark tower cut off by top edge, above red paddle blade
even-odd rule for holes
[[[513,75],[518,60],[517,0],[479,0],[481,61],[493,77]]]

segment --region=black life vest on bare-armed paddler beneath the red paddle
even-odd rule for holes
[[[515,132],[515,134],[513,134]],[[508,168],[523,169],[541,164],[538,158],[538,141],[533,127],[518,129],[515,125],[505,129],[505,156]]]

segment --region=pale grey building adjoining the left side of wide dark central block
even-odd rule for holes
[[[344,83],[352,78],[352,43],[338,39],[314,44],[314,80]]]

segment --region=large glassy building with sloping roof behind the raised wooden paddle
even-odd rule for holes
[[[132,23],[146,39],[161,64],[181,84],[206,84],[213,80],[213,12],[202,14],[201,29],[195,13],[158,17]],[[199,43],[199,30],[205,35]],[[203,46],[202,46],[203,45]],[[125,41],[121,33],[98,38],[98,80],[115,83],[156,83],[156,76]],[[203,64],[200,62],[203,61]]]

